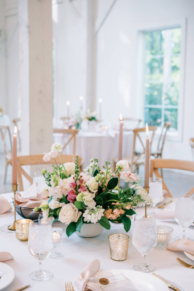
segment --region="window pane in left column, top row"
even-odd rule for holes
[[[164,38],[162,31],[146,33],[146,54],[163,54]]]

